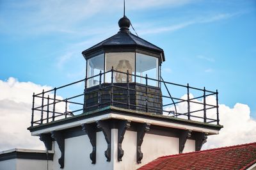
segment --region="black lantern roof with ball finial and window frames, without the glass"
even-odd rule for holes
[[[137,61],[136,54],[137,53],[145,54],[148,57],[157,58],[157,60],[158,60],[157,66],[156,66],[157,77],[155,77],[155,78],[159,80],[161,77],[161,75],[160,75],[161,74],[161,72],[160,72],[161,63],[163,63],[163,61],[165,61],[163,49],[157,47],[156,45],[154,45],[150,42],[147,42],[146,40],[143,40],[139,36],[133,35],[129,31],[131,22],[125,15],[118,21],[118,25],[120,27],[120,31],[118,31],[118,33],[116,33],[116,35],[113,35],[113,36],[109,37],[108,39],[106,39],[100,43],[97,43],[93,47],[90,47],[89,49],[84,50],[82,52],[84,59],[86,59],[86,61],[88,62],[89,59],[95,58],[96,56],[99,56],[100,54],[104,54],[104,70],[102,70],[102,72],[106,72],[111,69],[110,67],[107,68],[107,66],[106,66],[106,60],[108,60],[108,58],[106,58],[107,54],[110,54],[110,53],[118,54],[120,52],[121,53],[122,52],[124,52],[124,53],[132,52],[132,53],[134,53],[134,74],[136,74],[136,61]],[[118,58],[119,57],[116,56],[116,59],[118,59]],[[114,69],[119,70],[118,68],[116,69],[115,67],[114,67]],[[87,70],[88,70],[88,68],[86,68],[86,71]],[[124,72],[124,69],[122,69],[122,71]],[[125,72],[126,72],[126,70],[125,70]],[[119,74],[117,73],[117,75],[119,75]],[[88,76],[87,72],[86,72],[86,76]],[[104,82],[106,82],[105,79],[104,79]],[[134,79],[134,82],[136,82],[136,79]],[[159,84],[157,84],[157,85],[159,86]]]

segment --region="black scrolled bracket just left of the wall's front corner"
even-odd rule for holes
[[[106,142],[108,143],[108,148],[105,151],[105,157],[107,158],[107,161],[110,162],[111,160],[111,128],[109,127],[109,123],[107,121],[97,121],[97,128],[100,128],[102,130]]]

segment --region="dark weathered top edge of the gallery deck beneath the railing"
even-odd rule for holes
[[[220,130],[221,128],[223,128],[223,126],[221,126],[221,125],[212,125],[210,123],[201,123],[198,121],[184,120],[184,119],[174,118],[174,117],[170,117],[170,116],[163,116],[163,115],[159,115],[159,114],[150,114],[150,113],[146,113],[146,112],[131,111],[128,109],[120,109],[117,107],[109,106],[109,107],[105,107],[102,109],[98,109],[96,111],[86,112],[84,114],[79,114],[76,116],[72,116],[70,118],[65,118],[63,120],[52,121],[50,123],[45,123],[43,125],[29,127],[28,130],[30,132],[35,132],[36,130],[42,130],[45,128],[55,127],[57,125],[64,125],[66,123],[72,123],[72,122],[79,121],[79,120],[85,120],[88,118],[93,118],[95,116],[108,114],[110,112],[115,113],[115,114],[125,115],[125,116],[147,118],[148,120],[159,120],[159,121],[164,121],[164,122],[169,122],[169,123],[177,123],[177,124],[181,124],[181,125],[192,125],[192,126],[201,127],[201,128],[205,127],[205,128],[209,128],[212,130]]]

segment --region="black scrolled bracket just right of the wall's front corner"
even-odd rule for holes
[[[117,159],[122,161],[124,156],[124,150],[122,149],[122,142],[124,140],[124,134],[127,128],[131,126],[131,121],[122,120],[118,123],[118,148],[117,148]]]

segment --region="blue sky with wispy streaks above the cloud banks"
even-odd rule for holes
[[[127,0],[138,35],[164,49],[165,81],[220,92],[256,118],[256,1]],[[81,52],[118,31],[122,1],[0,1],[0,80],[83,79]],[[132,33],[134,33],[132,31]]]

